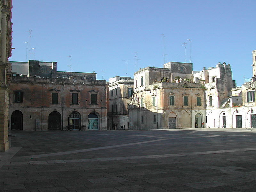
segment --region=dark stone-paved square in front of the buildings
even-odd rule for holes
[[[15,132],[0,192],[255,191],[256,130]]]

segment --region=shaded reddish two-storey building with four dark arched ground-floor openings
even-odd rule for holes
[[[57,62],[10,62],[10,130],[106,130],[107,84],[96,73],[57,71]]]

